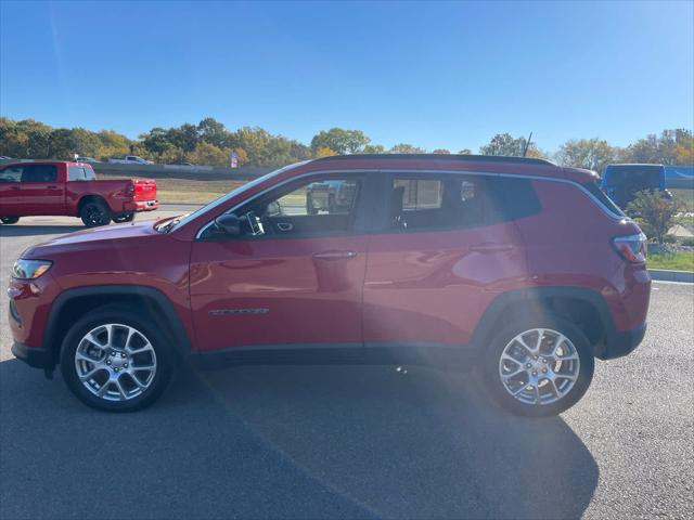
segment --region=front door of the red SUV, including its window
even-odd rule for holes
[[[191,258],[197,348],[361,347],[365,182],[305,178],[235,209],[241,236],[208,226]]]

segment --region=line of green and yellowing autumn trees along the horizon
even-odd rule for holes
[[[611,162],[694,164],[692,130],[664,130],[625,146],[613,146],[599,138],[575,139],[555,153],[538,147],[526,138],[509,133],[494,135],[479,147],[484,155],[522,156],[555,159],[560,165],[602,171]],[[72,159],[75,154],[106,160],[108,157],[139,155],[160,164],[192,162],[228,166],[231,154],[240,166],[279,167],[314,157],[346,154],[419,154],[427,150],[400,143],[390,148],[374,144],[361,130],[332,128],[318,132],[310,144],[272,134],[259,127],[229,130],[207,117],[197,125],[155,127],[137,140],[113,130],[98,132],[83,128],[52,128],[34,119],[0,117],[0,155],[14,158]],[[434,154],[450,154],[446,148]],[[470,148],[457,151],[471,154]]]

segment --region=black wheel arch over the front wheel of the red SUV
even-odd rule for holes
[[[160,290],[138,285],[77,287],[61,292],[51,307],[43,333],[43,346],[51,353],[53,364],[57,364],[63,339],[77,318],[99,307],[118,303],[152,320],[179,355],[190,352],[190,338],[171,301]]]

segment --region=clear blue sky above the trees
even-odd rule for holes
[[[0,113],[131,138],[213,116],[307,143],[626,145],[694,127],[693,5],[2,0]]]

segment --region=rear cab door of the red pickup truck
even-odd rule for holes
[[[64,184],[56,165],[25,165],[20,186],[21,214],[65,213]]]

